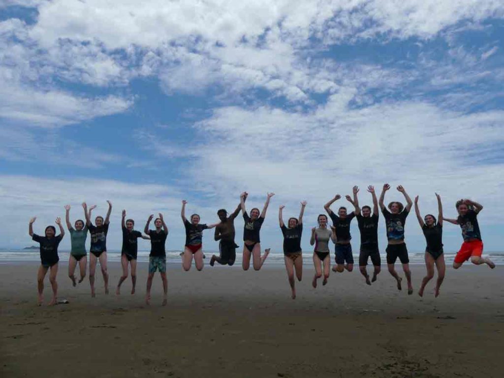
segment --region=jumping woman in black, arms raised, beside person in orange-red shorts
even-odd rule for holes
[[[418,219],[418,223],[425,236],[425,241],[427,246],[425,247],[425,267],[427,268],[427,275],[422,280],[422,285],[420,290],[418,290],[418,295],[423,296],[423,291],[425,290],[425,285],[429,282],[432,277],[434,277],[434,264],[437,269],[437,283],[434,296],[439,295],[439,287],[445,279],[445,255],[443,254],[443,204],[441,203],[441,197],[436,193],[437,198],[437,223],[436,218],[427,214],[423,219],[420,215],[420,209],[418,208],[418,196],[415,197],[415,214]]]

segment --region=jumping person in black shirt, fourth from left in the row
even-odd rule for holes
[[[119,278],[117,283],[117,289],[115,294],[120,294],[120,287],[122,282],[128,278],[128,264],[131,265],[131,282],[132,288],[131,293],[135,294],[135,288],[137,285],[137,254],[138,254],[138,243],[137,239],[141,237],[142,239],[150,239],[150,236],[142,234],[140,231],[133,229],[135,226],[135,221],[133,219],[126,218],[126,210],[122,210],[121,227],[122,227],[122,249],[121,249],[121,266],[122,266],[122,276]]]

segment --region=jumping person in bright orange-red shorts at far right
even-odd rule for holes
[[[460,225],[462,237],[464,238],[464,242],[453,261],[454,269],[460,268],[469,259],[474,265],[486,264],[492,269],[495,268],[495,264],[489,258],[481,256],[483,254],[483,241],[481,240],[477,215],[483,209],[483,206],[471,200],[459,200],[455,207],[459,212],[457,219],[443,217],[443,220],[447,222]]]

